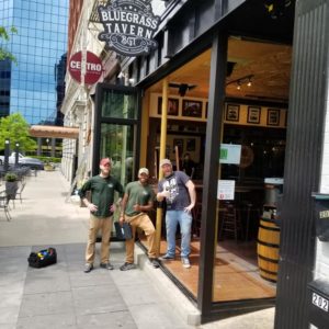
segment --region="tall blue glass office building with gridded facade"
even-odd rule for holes
[[[30,124],[55,123],[60,97],[56,70],[67,52],[68,9],[69,0],[0,0],[0,25],[18,30],[0,44],[18,60],[0,65],[0,115],[19,112]]]

